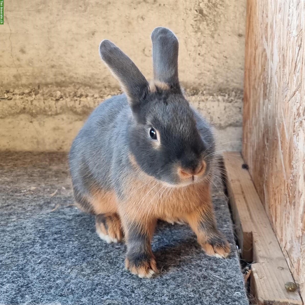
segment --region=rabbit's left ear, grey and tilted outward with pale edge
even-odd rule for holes
[[[138,106],[149,85],[137,66],[107,39],[100,43],[99,55],[120,82],[131,106]]]

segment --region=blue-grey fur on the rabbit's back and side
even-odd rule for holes
[[[75,137],[69,165],[74,193],[81,198],[91,196],[92,188],[113,190],[113,158],[118,151],[126,150],[122,130],[127,129],[129,113],[126,96],[113,96],[96,107]],[[89,209],[85,202],[83,207]]]

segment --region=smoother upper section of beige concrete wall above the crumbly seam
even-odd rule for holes
[[[15,88],[21,77],[24,85],[115,87],[99,58],[105,38],[151,78],[150,34],[164,26],[179,39],[185,87],[242,88],[245,20],[245,0],[10,0],[0,27],[0,85]]]

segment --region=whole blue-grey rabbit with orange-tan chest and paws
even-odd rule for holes
[[[207,255],[225,258],[211,202],[215,141],[178,80],[178,39],[152,31],[153,81],[116,45],[99,54],[124,94],[102,102],[74,139],[69,165],[76,203],[95,215],[107,243],[127,244],[125,267],[140,278],[156,274],[151,240],[157,220],[184,221]],[[214,161],[213,161],[214,160]]]

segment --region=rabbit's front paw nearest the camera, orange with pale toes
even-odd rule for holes
[[[150,258],[128,258],[125,260],[125,267],[132,274],[139,278],[151,278],[157,273],[157,265],[154,257]]]

